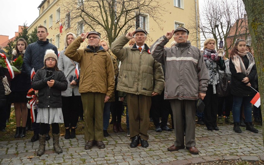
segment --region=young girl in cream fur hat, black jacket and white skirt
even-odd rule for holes
[[[51,49],[46,50],[44,67],[39,69],[33,78],[32,88],[38,90],[38,114],[36,122],[40,123],[39,148],[37,155],[45,151],[47,124],[52,126],[53,147],[57,154],[62,153],[59,146],[59,123],[64,123],[62,115],[61,91],[65,91],[68,81],[62,71],[57,67],[58,58]],[[51,71],[51,76],[46,76]]]

